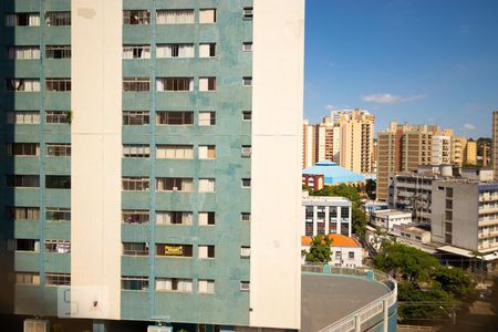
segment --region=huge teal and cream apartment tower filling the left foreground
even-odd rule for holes
[[[299,329],[303,11],[3,1],[0,312]]]

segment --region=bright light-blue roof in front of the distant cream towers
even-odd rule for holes
[[[335,186],[340,184],[355,184],[363,183],[366,177],[351,172],[344,167],[338,165],[330,160],[322,160],[317,163],[314,166],[307,167],[302,170],[303,175],[323,175],[325,180],[325,186]]]

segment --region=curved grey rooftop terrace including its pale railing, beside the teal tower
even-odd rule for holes
[[[301,331],[396,329],[397,284],[387,274],[361,268],[303,266],[301,282]]]

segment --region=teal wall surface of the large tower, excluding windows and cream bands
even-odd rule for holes
[[[220,325],[249,324],[249,292],[241,290],[241,281],[250,280],[250,258],[241,257],[241,247],[250,246],[250,225],[241,220],[250,212],[250,188],[242,178],[250,179],[250,157],[242,156],[242,146],[251,145],[250,118],[251,87],[243,86],[242,77],[252,75],[251,52],[242,44],[252,42],[252,21],[243,18],[243,8],[251,0],[124,0],[123,10],[146,10],[149,24],[124,24],[123,45],[151,46],[149,59],[122,60],[123,79],[147,77],[149,90],[124,91],[120,112],[149,112],[149,122],[142,125],[123,125],[123,144],[143,144],[149,156],[123,158],[123,177],[149,179],[144,191],[123,191],[123,210],[148,211],[148,222],[123,222],[122,241],[147,243],[148,255],[123,255],[120,277],[144,277],[148,287],[139,290],[123,289],[121,315],[124,320],[165,320],[170,322]],[[157,10],[194,10],[194,23],[156,24]],[[216,9],[216,22],[199,23],[203,9]],[[15,284],[12,308],[1,308],[17,313],[56,315],[58,287],[48,286],[45,274],[71,273],[71,255],[49,252],[45,240],[71,240],[71,222],[48,220],[46,209],[70,209],[71,190],[45,188],[46,175],[71,174],[69,156],[48,156],[46,143],[71,143],[70,121],[48,123],[48,114],[71,112],[71,93],[49,92],[46,79],[70,79],[71,59],[46,59],[46,45],[70,45],[71,27],[48,27],[45,12],[71,11],[69,0],[3,1],[0,22],[12,13],[39,13],[37,27],[2,27],[0,46],[38,46],[39,59],[0,58],[0,190],[4,196],[1,211],[12,208],[38,208],[38,217],[18,219],[2,214],[0,241],[10,248],[2,252],[2,271],[38,276],[31,282]],[[122,14],[122,13],[116,13]],[[157,44],[194,44],[193,58],[157,58]],[[215,56],[200,58],[200,44],[215,43]],[[191,91],[156,90],[156,79],[193,77]],[[216,77],[216,91],[200,91],[201,77]],[[8,80],[37,79],[35,92],[9,91]],[[11,123],[11,112],[37,112],[39,121]],[[117,112],[117,110],[110,110]],[[157,124],[156,112],[193,112],[188,125]],[[200,125],[201,112],[214,112],[216,121]],[[4,146],[11,143],[35,143],[35,155],[10,155]],[[156,158],[157,145],[193,146],[193,158]],[[214,158],[199,158],[199,146],[215,146]],[[84,165],[82,165],[84,167]],[[39,175],[34,187],[8,186],[11,175]],[[191,193],[155,190],[156,178],[191,178]],[[199,179],[215,179],[212,193],[199,193]],[[191,212],[190,225],[157,225],[156,211]],[[199,212],[214,212],[215,225],[199,225]],[[20,211],[19,214],[22,214]],[[23,217],[24,218],[24,217]],[[31,218],[31,219],[30,219]],[[17,239],[34,240],[35,248],[24,248]],[[160,257],[158,245],[191,245],[191,257]],[[31,246],[31,245],[29,245]],[[199,246],[214,246],[214,258],[199,258]],[[21,248],[22,247],[22,248]],[[21,249],[20,249],[21,248]],[[191,279],[191,290],[157,291],[156,278]],[[212,293],[199,292],[199,280],[214,280]],[[45,286],[46,284],[46,286]],[[13,287],[13,286],[12,286]],[[62,286],[61,286],[62,287]],[[41,305],[52,301],[51,305]]]

